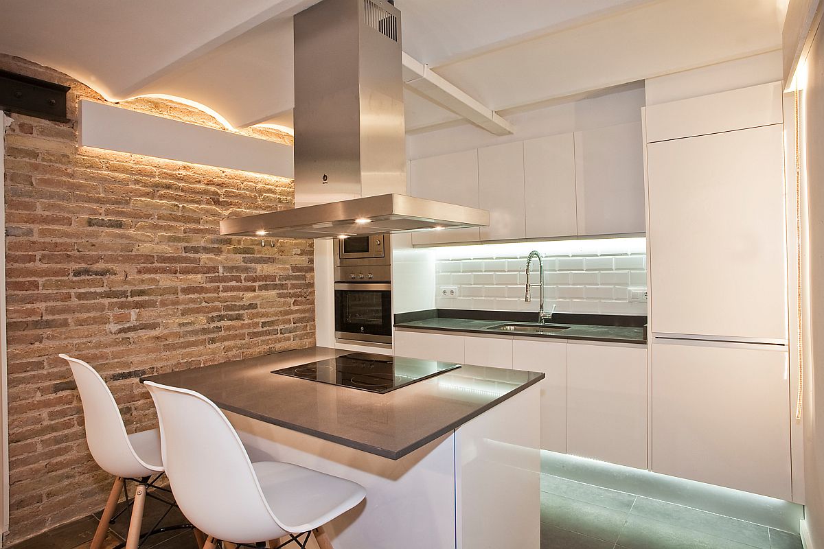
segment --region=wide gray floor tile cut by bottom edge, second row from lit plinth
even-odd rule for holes
[[[752,549],[751,545],[630,514],[618,537],[626,549]]]

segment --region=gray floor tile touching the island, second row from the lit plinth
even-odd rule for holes
[[[571,500],[562,495],[541,493],[541,522],[557,528],[616,542],[629,513]]]

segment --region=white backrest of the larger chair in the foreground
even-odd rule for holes
[[[166,476],[186,518],[200,531],[231,542],[269,539],[273,527],[283,528],[223,412],[200,393],[145,384],[160,419]]]

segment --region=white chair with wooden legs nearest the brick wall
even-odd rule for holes
[[[137,549],[140,528],[143,526],[143,505],[146,502],[147,486],[151,484],[149,481],[152,475],[163,472],[160,432],[152,429],[127,434],[117,402],[103,378],[86,362],[67,355],[60,355],[60,358],[68,361],[77,383],[86,421],[86,441],[91,456],[101,469],[115,477],[90,549],[100,549],[103,545],[109,521],[115,514],[120,492],[125,490],[127,480],[138,482],[138,487],[132,502],[132,518],[126,537],[126,549]],[[128,497],[128,492],[126,495]]]

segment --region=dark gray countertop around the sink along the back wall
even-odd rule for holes
[[[468,332],[485,334],[502,334],[507,336],[517,335],[518,337],[544,337],[551,339],[576,339],[582,341],[614,342],[614,343],[638,343],[646,345],[644,339],[644,328],[634,328],[630,326],[595,326],[589,324],[572,323],[550,323],[571,328],[563,332],[556,333],[512,333],[503,330],[489,329],[493,326],[506,324],[502,320],[471,320],[471,319],[444,319],[432,318],[423,320],[413,320],[410,322],[396,323],[396,328],[408,330],[437,330],[440,332]],[[521,322],[509,322],[511,324],[523,324]]]

